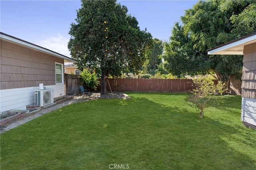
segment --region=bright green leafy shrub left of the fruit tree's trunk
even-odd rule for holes
[[[100,84],[100,82],[97,80],[97,74],[90,73],[89,71],[84,69],[84,71],[82,71],[80,75],[82,82],[85,83],[87,87],[96,90],[97,86]]]

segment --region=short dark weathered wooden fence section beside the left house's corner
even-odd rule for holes
[[[80,93],[80,86],[82,86],[80,75],[64,74],[64,84],[66,95],[76,95]]]

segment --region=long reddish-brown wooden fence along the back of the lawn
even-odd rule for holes
[[[130,92],[190,92],[190,79],[148,79],[148,78],[120,78],[108,79],[112,91]],[[97,88],[100,90],[100,86]],[[109,85],[107,84],[109,91]]]

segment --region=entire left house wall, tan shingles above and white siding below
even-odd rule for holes
[[[34,104],[34,90],[41,83],[54,89],[54,98],[64,96],[64,83],[55,82],[55,63],[64,65],[64,59],[1,38],[0,111],[26,109]]]

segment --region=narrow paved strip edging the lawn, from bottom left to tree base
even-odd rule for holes
[[[0,133],[4,133],[5,131],[8,131],[10,129],[13,129],[14,127],[17,127],[19,125],[22,125],[32,119],[36,119],[37,117],[40,117],[41,115],[44,115],[46,113],[49,113],[50,111],[56,110],[60,107],[67,106],[69,104],[78,103],[78,102],[86,102],[89,100],[95,100],[98,98],[124,98],[128,99],[130,98],[128,95],[121,93],[121,92],[114,92],[112,94],[106,94],[104,96],[101,96],[100,93],[92,93],[88,95],[82,95],[82,96],[75,96],[74,99],[68,100],[66,102],[47,107],[45,109],[40,109],[39,111],[36,111],[34,113],[31,113],[31,115],[28,115],[27,117],[24,117],[18,121],[15,121],[13,123],[10,123],[10,125],[7,125],[6,127],[2,127]]]

